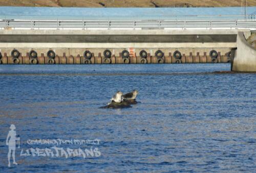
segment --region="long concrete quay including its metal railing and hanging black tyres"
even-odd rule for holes
[[[249,46],[244,42],[243,33],[248,35],[256,30],[255,19],[199,17],[189,20],[38,20],[33,16],[28,20],[9,17],[0,21],[0,63],[232,61],[235,71],[256,71],[253,48],[245,52],[246,56],[243,52],[247,50],[245,46]],[[245,65],[247,59],[250,59],[250,68]],[[241,63],[244,68],[237,68]]]

